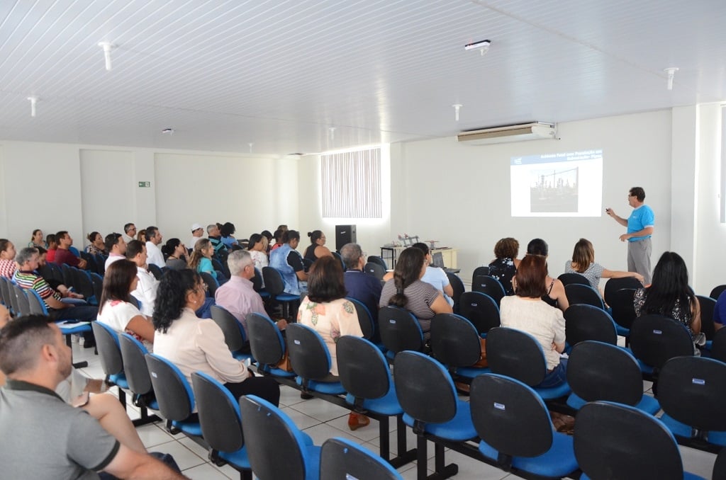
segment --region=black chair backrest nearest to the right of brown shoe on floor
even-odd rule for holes
[[[393,370],[399,403],[417,423],[446,423],[454,418],[457,394],[444,365],[423,353],[406,351],[396,355]]]

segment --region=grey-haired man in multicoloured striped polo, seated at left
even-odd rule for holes
[[[62,302],[62,295],[51,288],[49,284],[36,273],[38,268],[38,249],[25,247],[15,257],[15,262],[19,266],[15,271],[13,280],[23,289],[32,289],[38,292],[48,309],[48,314],[53,320],[81,320],[83,322],[92,322],[98,316],[98,307],[91,305],[70,305]],[[83,344],[84,348],[95,347],[93,334],[86,332],[83,334],[86,340]]]

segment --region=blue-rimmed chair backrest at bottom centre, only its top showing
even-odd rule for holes
[[[348,439],[327,439],[320,450],[320,480],[402,480],[401,474],[367,448]]]

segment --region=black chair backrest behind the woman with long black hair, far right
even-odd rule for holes
[[[643,315],[630,328],[630,349],[646,365],[661,368],[673,357],[693,355],[693,340],[682,323],[664,315]]]

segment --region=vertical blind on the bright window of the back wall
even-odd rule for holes
[[[381,218],[380,148],[320,156],[323,218]]]

